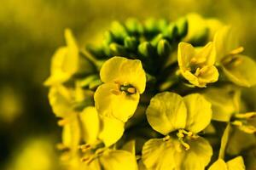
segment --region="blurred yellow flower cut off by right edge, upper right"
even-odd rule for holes
[[[220,29],[213,40],[217,51],[217,62],[225,76],[243,87],[256,85],[256,63],[250,57],[242,55],[236,32],[230,26]]]

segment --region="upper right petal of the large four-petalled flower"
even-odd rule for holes
[[[205,129],[212,119],[212,105],[201,94],[189,94],[183,98],[187,107],[186,129],[199,133]]]

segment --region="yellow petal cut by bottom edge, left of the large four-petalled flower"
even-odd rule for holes
[[[106,150],[99,161],[104,170],[137,170],[135,156],[125,150]]]

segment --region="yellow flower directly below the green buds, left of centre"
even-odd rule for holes
[[[96,89],[96,110],[102,116],[126,122],[136,111],[146,87],[141,61],[113,57],[102,65],[100,76],[104,83]]]

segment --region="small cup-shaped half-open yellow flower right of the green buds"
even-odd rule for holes
[[[191,44],[180,42],[177,49],[177,62],[185,79],[203,88],[207,83],[218,81],[218,70],[214,66],[215,49],[212,42],[200,49]]]

